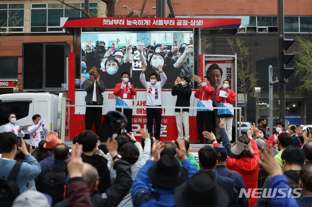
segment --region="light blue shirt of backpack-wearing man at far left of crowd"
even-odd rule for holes
[[[20,171],[15,179],[18,184],[20,193],[26,191],[26,185],[31,180],[35,179],[41,172],[38,161],[32,155],[28,154],[25,156],[27,163],[23,162],[20,166]],[[7,178],[11,172],[16,160],[14,159],[0,159],[0,176]]]

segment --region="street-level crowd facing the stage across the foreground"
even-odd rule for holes
[[[16,121],[12,115],[9,126]],[[30,130],[43,130],[40,120],[34,116]],[[18,138],[20,131],[3,132],[0,202],[13,207],[310,207],[310,129],[289,125],[285,131],[278,121],[276,133],[266,138],[266,120],[258,124],[231,144],[226,118],[220,118],[222,146],[214,133],[203,131],[212,146],[198,151],[198,162],[185,138],[162,143],[144,129],[141,142],[133,132],[105,139],[103,125],[99,136],[86,130],[73,139],[71,153],[56,132],[39,137],[34,150]]]

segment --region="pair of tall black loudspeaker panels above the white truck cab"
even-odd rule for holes
[[[23,90],[64,90],[67,42],[23,43]]]

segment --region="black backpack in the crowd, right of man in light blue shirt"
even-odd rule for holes
[[[53,205],[55,205],[64,200],[67,176],[66,164],[60,169],[54,168],[53,165],[48,165],[47,169],[48,172],[41,178],[40,192],[49,194],[53,198]]]

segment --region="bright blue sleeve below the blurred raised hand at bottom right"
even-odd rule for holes
[[[271,186],[270,188],[274,189],[289,189],[289,183],[287,178],[284,175],[276,175],[271,179]],[[271,202],[274,207],[299,207],[296,199],[292,198],[293,194],[290,197],[285,196],[287,195],[288,190],[283,190],[283,194],[279,193],[278,190],[276,195],[271,198]]]

